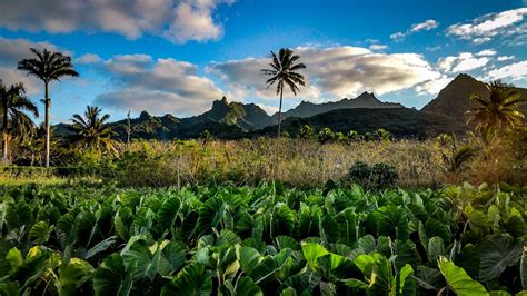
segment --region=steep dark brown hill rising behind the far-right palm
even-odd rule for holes
[[[527,89],[517,88],[517,90],[523,93],[524,98],[527,98]],[[484,82],[465,73],[458,75],[422,108],[422,111],[448,115],[464,124],[467,121],[465,112],[476,107],[476,103],[469,99],[473,93],[488,96],[488,90]],[[527,103],[523,103],[520,109],[527,114]]]

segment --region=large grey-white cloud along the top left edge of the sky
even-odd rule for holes
[[[64,33],[115,32],[129,39],[143,33],[170,41],[206,41],[221,37],[222,26],[212,17],[231,0],[17,0],[2,6],[0,27],[11,30]]]

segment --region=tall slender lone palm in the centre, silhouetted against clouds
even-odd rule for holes
[[[292,93],[297,96],[297,91],[300,91],[298,85],[306,86],[304,76],[296,72],[297,70],[305,69],[306,65],[299,62],[295,63],[296,60],[300,59],[300,56],[294,55],[292,50],[282,48],[278,52],[278,57],[271,51],[272,61],[269,63],[271,69],[262,69],[265,75],[272,76],[266,83],[267,88],[277,83],[277,95],[280,95],[280,108],[278,109],[278,137],[280,137],[281,129],[281,102],[284,98],[284,87],[289,86]]]

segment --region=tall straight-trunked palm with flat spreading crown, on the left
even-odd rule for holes
[[[18,62],[18,69],[28,72],[29,75],[38,77],[40,80],[44,82],[46,95],[43,99],[43,103],[46,106],[46,118],[44,118],[44,127],[46,127],[46,142],[44,142],[44,150],[46,150],[46,167],[49,167],[49,138],[50,138],[50,129],[49,129],[49,109],[51,107],[51,99],[49,98],[49,83],[53,80],[60,81],[62,77],[77,77],[79,73],[73,70],[73,65],[71,63],[71,58],[68,56],[62,55],[61,52],[52,52],[48,49],[42,51],[30,48],[29,49],[36,58],[30,59],[22,59]]]

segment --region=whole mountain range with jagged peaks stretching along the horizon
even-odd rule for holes
[[[517,88],[527,98],[527,89]],[[457,76],[438,96],[421,110],[406,108],[400,103],[382,102],[371,92],[362,92],[355,99],[314,103],[302,101],[282,114],[284,129],[295,135],[301,125],[315,129],[329,127],[335,131],[357,130],[367,132],[385,128],[399,137],[426,137],[440,132],[463,134],[465,111],[474,107],[473,93],[487,96],[485,83],[468,75]],[[527,114],[527,103],[520,107]],[[130,120],[132,138],[170,140],[173,138],[198,138],[208,130],[216,138],[237,139],[261,135],[274,135],[278,115],[269,116],[255,103],[228,101],[212,102],[212,108],[199,116],[177,118],[172,115],[151,116],[142,111]],[[68,124],[56,126],[56,134],[67,136]],[[117,138],[127,138],[127,119],[110,122]]]

